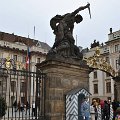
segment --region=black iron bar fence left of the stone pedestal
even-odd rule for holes
[[[3,120],[44,118],[45,74],[0,68],[0,97],[7,104]]]

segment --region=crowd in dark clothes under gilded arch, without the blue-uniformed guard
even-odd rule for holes
[[[94,116],[95,118],[93,120],[98,119],[98,109],[101,108],[101,119],[102,120],[109,120],[110,114],[113,113],[113,120],[119,120],[117,119],[118,116],[120,116],[120,111],[118,112],[118,109],[120,108],[120,102],[113,100],[112,102],[110,100],[101,100],[99,103],[96,100],[93,100],[91,106],[94,108]]]

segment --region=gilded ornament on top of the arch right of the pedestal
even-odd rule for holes
[[[87,65],[89,65],[89,67],[102,70],[104,72],[109,73],[112,77],[115,77],[115,70],[107,61],[101,58],[99,47],[96,47],[93,56],[89,58],[84,58],[84,60],[87,61]]]

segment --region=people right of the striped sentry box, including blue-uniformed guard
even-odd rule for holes
[[[113,100],[100,100],[95,99],[90,105],[89,101],[85,100],[81,104],[81,112],[83,120],[120,120],[120,102]]]

